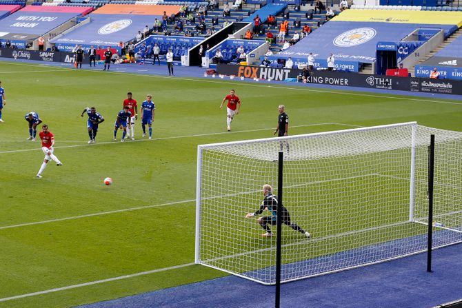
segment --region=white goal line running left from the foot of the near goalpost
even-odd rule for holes
[[[49,293],[58,292],[58,291],[66,291],[66,290],[69,290],[69,289],[77,289],[79,287],[87,287],[89,285],[98,285],[100,283],[110,283],[112,281],[128,279],[128,278],[133,278],[133,277],[137,277],[137,276],[156,274],[156,273],[159,273],[161,271],[170,271],[172,269],[181,269],[183,267],[190,267],[191,265],[194,265],[194,264],[195,263],[185,263],[185,264],[181,264],[181,265],[174,265],[174,266],[171,266],[171,267],[163,267],[161,269],[152,269],[150,271],[141,271],[139,273],[130,274],[130,275],[124,275],[124,276],[112,277],[112,278],[107,278],[107,279],[102,279],[102,280],[90,281],[88,283],[79,283],[78,285],[68,285],[66,287],[59,287],[59,288],[48,289],[48,290],[44,290],[44,291],[21,294],[21,295],[17,295],[17,296],[10,296],[10,297],[6,297],[6,298],[0,298],[0,302],[7,302],[8,300],[17,300],[19,298],[26,298],[26,297],[37,296],[37,295],[42,295],[42,294],[49,294]]]

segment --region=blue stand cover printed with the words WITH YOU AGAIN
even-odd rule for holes
[[[49,39],[75,24],[76,17],[91,12],[92,8],[26,6],[0,20],[3,40],[10,40],[17,48],[32,45],[38,37]]]

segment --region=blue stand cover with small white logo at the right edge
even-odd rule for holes
[[[462,80],[462,35],[449,43],[445,48],[436,52],[433,57],[416,65],[416,77],[428,77],[430,72],[436,68],[439,71],[440,79]]]

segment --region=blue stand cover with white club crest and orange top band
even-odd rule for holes
[[[120,41],[134,40],[138,31],[145,25],[152,26],[154,19],[161,19],[165,11],[168,16],[177,14],[179,6],[145,6],[137,4],[107,4],[91,14],[88,21],[76,25],[70,32],[51,40],[59,50],[72,50],[74,45],[82,45],[88,50],[90,45],[117,46]],[[121,48],[117,47],[119,52]]]

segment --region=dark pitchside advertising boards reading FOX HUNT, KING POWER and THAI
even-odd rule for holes
[[[217,71],[222,75],[272,81],[297,79],[297,76],[301,74],[301,70],[299,69],[265,68],[260,66],[227,64],[218,64]],[[319,85],[342,85],[346,87],[368,89],[462,95],[462,81],[450,79],[409,78],[314,70],[310,72],[306,81],[307,83]]]

